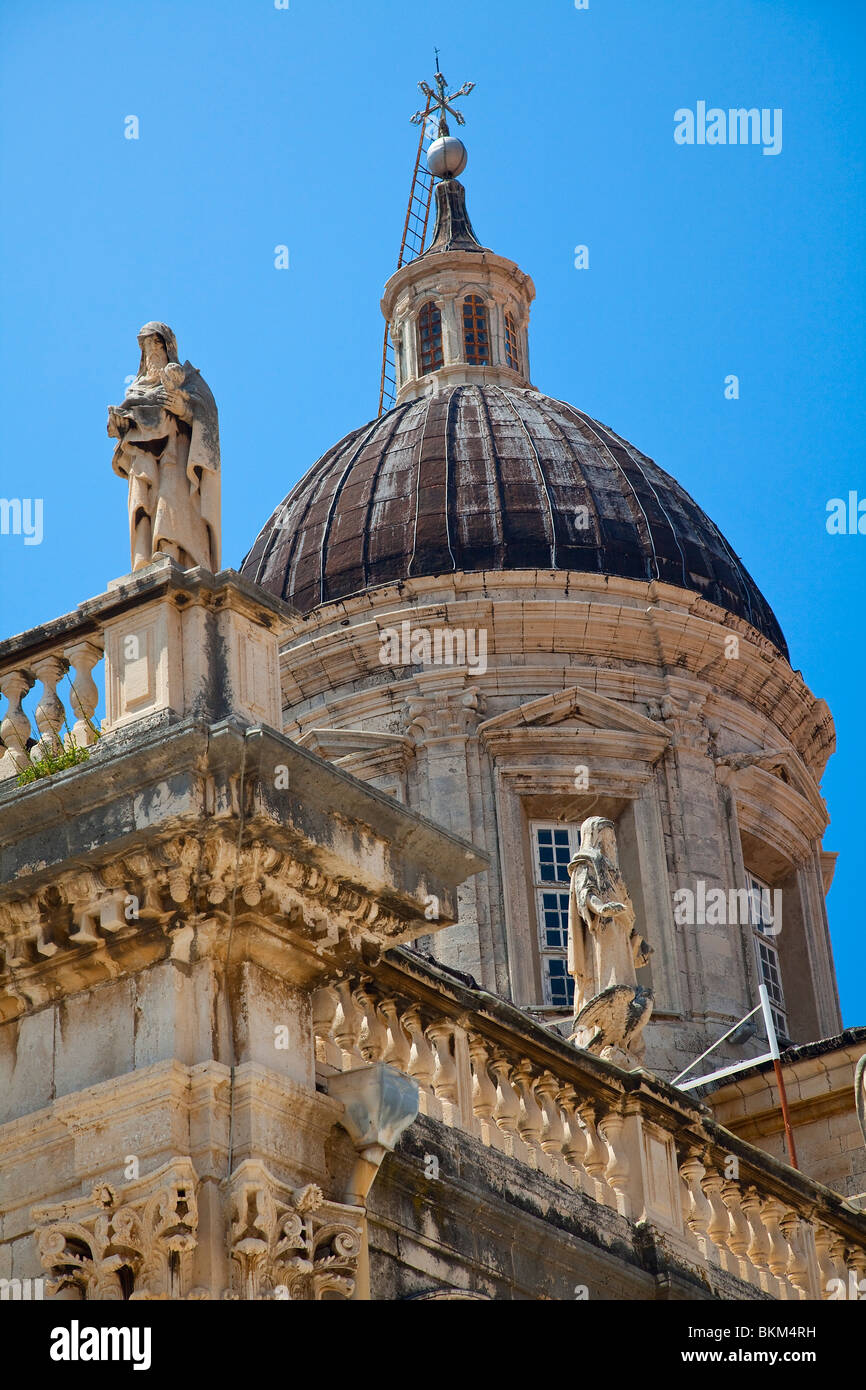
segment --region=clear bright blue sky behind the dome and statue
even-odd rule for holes
[[[44,537],[0,537],[0,631],[128,569],[106,407],[146,320],[174,327],[220,406],[225,564],[375,414],[409,115],[439,44],[452,86],[477,82],[463,103],[475,229],[535,279],[535,384],[698,499],[835,716],[830,922],[845,1022],[866,1022],[866,537],[824,524],[830,498],[866,496],[865,14],[859,0],[3,0],[0,495],[42,496]],[[674,111],[698,100],[783,108],[781,153],[676,145]]]

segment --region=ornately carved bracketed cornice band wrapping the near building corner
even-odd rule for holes
[[[0,1016],[168,955],[189,960],[193,938],[197,958],[220,956],[232,898],[239,926],[271,937],[271,954],[282,944],[296,959],[300,949],[313,976],[342,955],[430,930],[424,898],[398,912],[375,887],[346,883],[264,841],[238,851],[225,826],[179,834],[0,901]],[[450,920],[446,909],[441,924]],[[235,959],[243,954],[238,942]]]

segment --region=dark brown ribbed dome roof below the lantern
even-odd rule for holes
[[[788,655],[769,603],[680,484],[534,389],[457,385],[354,430],[292,489],[240,569],[302,613],[455,570],[657,578]]]

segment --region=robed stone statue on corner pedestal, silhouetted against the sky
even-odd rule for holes
[[[220,569],[217,404],[197,370],[178,361],[165,324],[145,324],[142,360],[121,406],[108,406],[117,439],[111,467],[129,481],[132,570],[160,555],[183,569]]]

